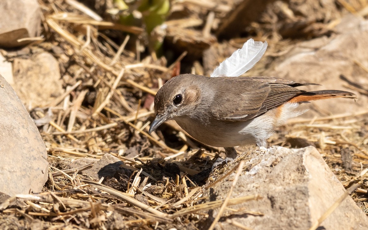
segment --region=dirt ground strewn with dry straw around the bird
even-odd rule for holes
[[[145,1],[132,1],[128,10],[119,1],[80,2],[103,21],[69,1],[40,0],[43,40],[7,51],[10,61],[51,53],[69,93],[28,107],[33,118],[48,118],[39,130],[49,154],[49,180],[38,199],[14,200],[2,210],[1,229],[201,229],[208,210],[221,205],[202,202],[202,194],[216,181],[212,163],[224,152],[196,142],[173,123],[148,134],[159,86],[180,73],[207,74],[249,38],[269,43],[249,72],[262,75],[288,47],[333,36],[334,25],[347,14],[368,15],[365,0],[170,1],[166,28],[148,33],[146,15],[162,14],[139,11],[137,4]],[[120,15],[139,13],[141,18],[123,24],[127,19]],[[210,47],[216,55],[206,55]],[[367,97],[368,85],[358,89]],[[361,181],[351,196],[368,215],[367,113],[362,108],[298,118],[278,128],[268,146],[315,146],[344,187]]]

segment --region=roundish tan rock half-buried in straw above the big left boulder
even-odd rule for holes
[[[57,60],[49,53],[13,62],[14,89],[25,105],[44,107],[63,93]]]

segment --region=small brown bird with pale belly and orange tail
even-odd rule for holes
[[[149,132],[175,120],[198,141],[224,147],[226,160],[234,146],[266,147],[275,127],[307,110],[301,103],[329,98],[355,98],[351,92],[307,92],[295,87],[315,85],[272,77],[205,77],[182,74],[171,78],[155,97],[156,118]]]

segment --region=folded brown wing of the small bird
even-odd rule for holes
[[[305,92],[293,87],[304,84],[287,80],[282,82],[283,79],[232,79],[234,80],[223,78],[223,84],[219,84],[222,89],[216,91],[223,94],[217,95],[217,100],[214,101],[217,105],[211,106],[213,116],[219,120],[246,121]]]

